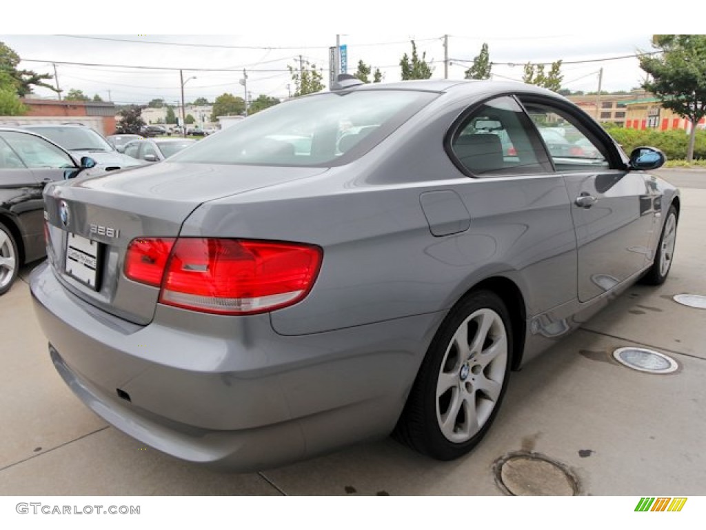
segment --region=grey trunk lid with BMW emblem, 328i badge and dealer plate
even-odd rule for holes
[[[124,276],[136,237],[177,237],[201,204],[325,168],[159,163],[47,188],[47,257],[64,286],[92,305],[148,324],[159,288]],[[233,235],[237,237],[237,234]]]

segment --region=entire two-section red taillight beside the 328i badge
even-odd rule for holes
[[[133,248],[135,242],[139,243]],[[168,260],[163,259],[164,252]],[[322,257],[319,247],[296,243],[143,238],[128,247],[125,273],[133,280],[161,285],[163,304],[219,314],[253,314],[304,298],[316,280]],[[161,271],[155,283],[157,269]]]

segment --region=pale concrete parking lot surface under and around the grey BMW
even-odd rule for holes
[[[35,320],[27,267],[0,298],[0,495],[504,495],[493,464],[515,452],[565,466],[580,495],[706,495],[706,310],[672,299],[706,295],[706,172],[659,173],[682,187],[669,279],[628,289],[513,373],[489,435],[457,461],[390,439],[249,474],[167,457],[104,423],[66,387]],[[666,353],[678,370],[630,370],[611,357],[624,346]],[[533,478],[534,493],[551,493],[554,478]]]

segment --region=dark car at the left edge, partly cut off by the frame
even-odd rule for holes
[[[20,266],[45,255],[44,186],[93,165],[31,131],[0,128],[0,295]]]

